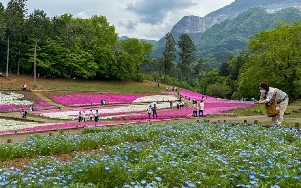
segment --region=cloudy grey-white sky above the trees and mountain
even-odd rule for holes
[[[103,15],[119,36],[160,39],[185,15],[205,16],[234,0],[28,0],[29,13],[44,9],[49,17],[71,13],[89,18]],[[1,0],[5,6],[8,0]]]

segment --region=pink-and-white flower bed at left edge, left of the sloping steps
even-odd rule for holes
[[[0,112],[16,112],[25,109],[29,111],[29,105],[34,105],[34,110],[45,110],[56,108],[40,98],[27,92],[1,92],[0,94]],[[22,94],[21,94],[22,93]],[[25,96],[24,96],[25,95]]]

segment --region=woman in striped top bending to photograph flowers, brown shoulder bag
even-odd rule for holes
[[[276,105],[275,109],[272,109],[275,115],[269,116],[267,112],[267,116],[272,117],[272,125],[281,126],[283,114],[288,107],[288,94],[277,88],[270,87],[267,83],[260,83],[259,90],[261,92],[260,99],[259,101],[255,100],[254,103],[266,104],[266,112],[268,107]],[[277,98],[277,104],[274,102],[275,97]]]

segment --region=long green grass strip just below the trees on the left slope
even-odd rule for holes
[[[166,91],[163,86],[143,86],[122,84],[99,84],[99,83],[77,83],[77,82],[44,82],[43,89],[63,91],[98,91],[98,92],[152,92]]]

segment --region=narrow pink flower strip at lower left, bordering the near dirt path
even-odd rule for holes
[[[159,120],[155,120],[159,121]],[[24,132],[32,132],[36,131],[43,131],[43,130],[53,130],[53,129],[65,129],[65,128],[75,128],[77,127],[91,127],[91,126],[108,126],[108,125],[122,125],[124,123],[138,123],[138,122],[148,122],[148,120],[133,120],[133,121],[108,121],[108,122],[75,122],[75,123],[62,123],[62,124],[55,124],[55,125],[46,125],[46,126],[39,126],[33,128],[24,128],[19,129],[18,133]],[[15,130],[10,131],[0,131],[0,134],[9,134],[15,133]]]

